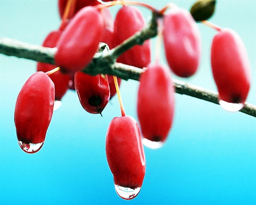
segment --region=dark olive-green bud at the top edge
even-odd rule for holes
[[[191,9],[190,13],[195,21],[204,21],[209,19],[215,10],[216,0],[198,0]]]

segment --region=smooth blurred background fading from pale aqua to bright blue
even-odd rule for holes
[[[168,3],[144,2],[158,9]],[[172,2],[189,9],[193,1]],[[111,9],[113,14],[118,8]],[[142,11],[147,18],[150,13]],[[248,102],[255,105],[256,1],[218,0],[211,21],[234,29],[243,39],[252,68]],[[56,0],[0,0],[1,37],[40,45],[59,24]],[[199,27],[199,72],[184,80],[216,90],[209,59],[216,31]],[[153,40],[152,50],[154,45]],[[145,148],[144,183],[131,201],[117,196],[105,157],[108,124],[120,116],[117,97],[101,117],[85,112],[76,93],[68,91],[53,114],[43,148],[23,153],[14,106],[35,66],[31,60],[0,55],[0,204],[256,204],[256,119],[180,94],[175,95],[175,119],[166,144],[158,150]],[[137,87],[132,80],[121,85],[126,114],[136,119]]]

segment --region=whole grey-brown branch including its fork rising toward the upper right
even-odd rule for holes
[[[85,67],[85,69],[83,69],[83,72],[89,75],[97,75],[99,73],[110,74],[125,80],[133,79],[139,81],[140,75],[144,72],[144,69],[116,63],[115,60],[126,49],[129,49],[136,44],[140,44],[144,40],[154,37],[156,34],[156,19],[152,18],[151,22],[142,31],[136,33],[120,46],[117,46],[110,51],[108,51],[108,46],[106,46],[105,43],[100,43],[100,52],[97,52],[94,55],[93,60],[87,67]],[[54,55],[56,53],[56,48],[46,48],[43,46],[23,43],[14,39],[0,38],[0,53],[18,58],[55,64]],[[176,93],[219,104],[218,93],[215,91],[177,80],[174,80],[174,84]],[[240,112],[256,117],[256,106],[250,103],[245,103],[244,108],[241,109]]]

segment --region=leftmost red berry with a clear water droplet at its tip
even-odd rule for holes
[[[43,146],[54,104],[54,84],[44,72],[36,72],[18,94],[14,122],[21,149],[35,153]]]

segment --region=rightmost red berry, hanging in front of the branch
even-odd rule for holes
[[[213,38],[211,64],[219,100],[244,104],[250,89],[250,62],[242,39],[232,29],[223,28]]]

